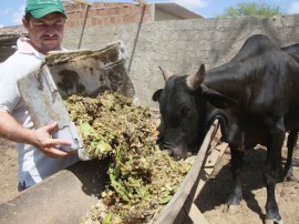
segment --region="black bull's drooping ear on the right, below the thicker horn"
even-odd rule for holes
[[[221,93],[212,89],[203,90],[203,96],[206,98],[212,105],[219,109],[228,109],[238,104],[236,100],[223,95]]]

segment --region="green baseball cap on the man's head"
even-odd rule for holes
[[[66,18],[61,0],[27,0],[25,14],[30,12],[35,19],[52,12],[60,12]]]

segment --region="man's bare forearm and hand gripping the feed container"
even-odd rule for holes
[[[8,112],[0,111],[0,138],[31,144],[51,157],[63,157],[69,153],[55,149],[55,145],[70,145],[71,143],[60,139],[52,139],[51,133],[56,129],[56,123],[37,130],[25,129]]]

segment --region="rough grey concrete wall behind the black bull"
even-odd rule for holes
[[[128,72],[141,104],[152,102],[155,90],[164,86],[158,65],[174,73],[194,73],[200,63],[207,69],[229,61],[245,40],[264,33],[278,45],[299,42],[299,14],[275,18],[217,18],[182,21],[86,27],[82,49],[100,49],[123,40],[128,51]],[[78,48],[81,29],[68,28],[64,47]]]

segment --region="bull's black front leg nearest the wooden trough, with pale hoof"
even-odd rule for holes
[[[230,146],[230,164],[231,164],[231,174],[233,174],[233,190],[227,198],[227,207],[225,212],[229,214],[235,214],[239,211],[240,201],[243,197],[241,193],[241,170],[243,170],[243,159],[244,151],[236,150]]]

